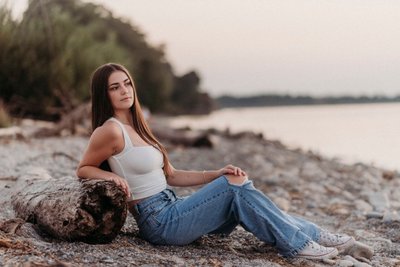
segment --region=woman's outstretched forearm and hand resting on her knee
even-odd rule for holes
[[[227,165],[219,170],[213,171],[184,171],[177,170],[171,165],[172,174],[167,177],[170,186],[196,186],[207,184],[224,174],[246,176],[246,173],[233,165]]]

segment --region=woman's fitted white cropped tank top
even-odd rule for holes
[[[166,189],[162,153],[151,145],[132,145],[124,125],[116,118],[109,120],[121,127],[125,145],[120,153],[108,158],[108,164],[113,173],[127,180],[132,199],[149,197]]]

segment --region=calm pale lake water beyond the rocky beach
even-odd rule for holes
[[[255,131],[343,162],[400,170],[400,103],[229,108],[179,116],[175,127]]]

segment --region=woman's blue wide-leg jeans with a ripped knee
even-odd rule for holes
[[[293,257],[320,228],[281,211],[248,180],[234,185],[221,176],[188,197],[166,189],[134,206],[142,238],[159,245],[185,245],[202,235],[231,233],[237,225]]]

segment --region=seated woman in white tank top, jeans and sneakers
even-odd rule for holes
[[[129,198],[140,235],[153,244],[185,245],[237,225],[287,257],[329,259],[354,243],[282,212],[254,188],[246,173],[227,165],[214,171],[175,169],[147,126],[129,72],[100,66],[91,80],[93,134],[77,169],[80,178],[110,180]],[[108,162],[111,169],[104,167]],[[170,186],[203,186],[176,197]]]

